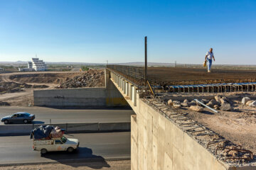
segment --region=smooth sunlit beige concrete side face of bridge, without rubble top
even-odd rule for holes
[[[124,98],[127,91],[119,88],[118,82],[111,76],[114,85]],[[253,165],[233,166],[220,161],[197,140],[179,127],[173,120],[155,110],[142,98],[139,98],[137,86],[127,81],[129,97],[127,103],[136,115],[131,116],[131,169],[171,169],[171,170],[251,170]],[[127,87],[126,86],[126,87]]]

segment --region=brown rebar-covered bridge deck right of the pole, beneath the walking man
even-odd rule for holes
[[[256,70],[149,67],[148,77],[154,85],[238,83],[255,81]]]

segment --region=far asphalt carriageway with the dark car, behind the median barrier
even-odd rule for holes
[[[97,123],[97,122],[129,122],[132,110],[120,109],[56,109],[43,107],[1,106],[0,118],[25,111],[36,115],[33,123]],[[1,123],[3,124],[3,123]]]

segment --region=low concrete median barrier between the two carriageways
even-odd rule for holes
[[[48,124],[43,124],[48,125]],[[130,131],[129,122],[123,123],[58,123],[50,124],[54,127],[59,126],[69,133],[79,132],[124,132]],[[31,130],[40,124],[31,125],[0,125],[0,135],[29,135]]]

